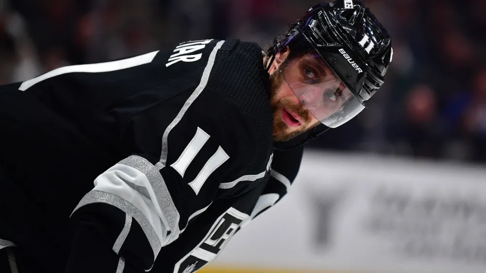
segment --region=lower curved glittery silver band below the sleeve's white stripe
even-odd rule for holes
[[[154,228],[148,221],[148,219],[143,215],[143,213],[130,202],[124,200],[120,196],[99,191],[99,190],[91,190],[88,192],[83,199],[79,202],[79,204],[74,208],[74,213],[80,207],[89,205],[89,204],[96,204],[96,203],[104,203],[108,205],[115,206],[119,208],[121,211],[125,212],[126,214],[130,215],[131,217],[135,218],[135,220],[139,223],[140,227],[143,230],[143,233],[147,237],[152,250],[154,251],[154,257],[158,255],[160,249],[162,248],[162,243],[158,238]]]

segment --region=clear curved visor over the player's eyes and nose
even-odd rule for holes
[[[295,96],[322,124],[335,128],[363,111],[364,105],[318,54],[295,57],[283,66],[282,76]]]

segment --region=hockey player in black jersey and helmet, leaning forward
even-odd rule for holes
[[[191,41],[1,86],[1,272],[200,269],[286,194],[300,144],[364,109],[392,54],[363,3],[337,0],[266,53]]]

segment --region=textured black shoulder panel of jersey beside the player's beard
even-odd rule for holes
[[[208,88],[237,107],[247,120],[256,153],[251,172],[264,169],[273,149],[273,111],[261,48],[238,39],[227,40],[216,56]]]

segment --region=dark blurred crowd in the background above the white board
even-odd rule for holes
[[[382,90],[310,146],[486,162],[486,1],[364,0],[393,37]],[[237,37],[266,48],[315,0],[0,0],[0,84]]]

